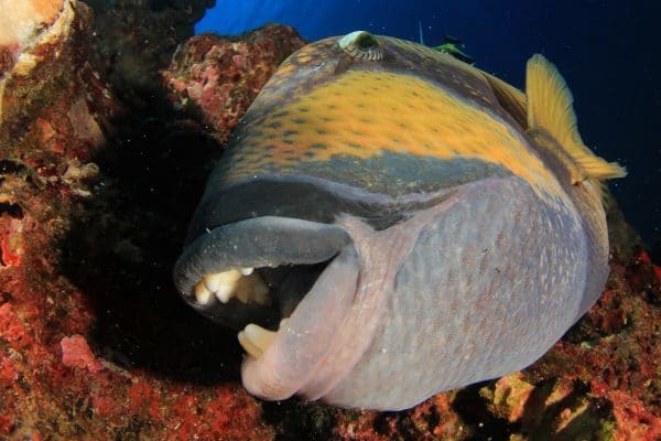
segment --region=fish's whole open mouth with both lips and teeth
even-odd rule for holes
[[[196,311],[240,330],[246,388],[285,399],[326,359],[358,273],[343,227],[262,216],[207,230],[177,260],[174,282]]]

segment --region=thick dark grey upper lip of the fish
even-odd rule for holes
[[[313,265],[334,259],[351,244],[340,226],[293,217],[261,216],[207,229],[182,252],[173,269],[174,284],[183,300],[198,313],[232,329],[249,323],[274,329],[281,319],[274,309],[241,303],[198,304],[194,287],[209,273],[230,268],[277,268]]]

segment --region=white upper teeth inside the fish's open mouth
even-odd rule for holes
[[[195,287],[195,297],[198,303],[207,304],[212,294],[223,303],[235,297],[243,303],[270,303],[269,288],[254,268],[248,267],[206,275]]]

